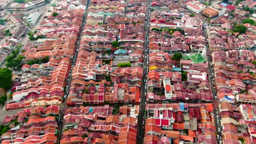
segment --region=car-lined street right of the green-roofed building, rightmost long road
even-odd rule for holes
[[[216,126],[216,131],[217,131],[217,143],[219,144],[219,140],[222,140],[222,128],[220,125],[220,117],[219,117],[219,111],[218,111],[218,104],[219,101],[217,99],[217,93],[216,93],[216,89],[214,89],[213,83],[214,83],[214,71],[213,71],[213,65],[212,65],[212,58],[211,58],[211,54],[208,55],[208,53],[211,53],[210,48],[209,48],[209,43],[208,43],[208,33],[207,33],[207,23],[205,23],[205,21],[203,21],[203,25],[205,25],[205,27],[203,27],[203,32],[205,33],[205,38],[206,38],[206,45],[207,45],[207,62],[208,62],[208,73],[209,73],[209,77],[208,79],[210,80],[210,85],[211,85],[211,91],[213,94],[213,105],[214,105],[214,123]]]

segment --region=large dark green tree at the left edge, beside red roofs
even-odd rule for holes
[[[11,88],[11,77],[13,77],[13,74],[11,74],[13,71],[11,71],[8,68],[0,68],[0,87],[8,90]]]

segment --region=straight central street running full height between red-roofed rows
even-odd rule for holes
[[[139,111],[139,117],[138,117],[138,139],[137,143],[143,143],[143,137],[144,137],[144,115],[145,115],[145,106],[146,106],[146,94],[147,89],[147,76],[148,76],[148,33],[149,33],[149,17],[150,17],[150,3],[151,0],[147,3],[147,21],[146,21],[146,37],[145,37],[145,43],[144,43],[144,64],[143,64],[143,80],[142,80],[142,91],[141,91],[141,103],[140,103],[140,111]]]

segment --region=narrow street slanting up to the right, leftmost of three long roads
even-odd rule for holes
[[[86,23],[86,17],[87,17],[87,14],[86,14],[86,11],[88,10],[88,6],[89,6],[89,3],[90,3],[90,0],[88,0],[87,2],[87,5],[86,5],[86,10],[85,10],[85,14],[84,14],[84,17],[83,17],[83,21],[82,21],[82,25],[80,26],[80,29],[79,29],[79,35],[78,35],[78,40],[75,44],[75,54],[74,54],[74,58],[72,59],[72,67],[71,67],[71,70],[69,70],[69,73],[68,73],[68,83],[66,85],[66,93],[65,93],[65,96],[64,96],[64,100],[63,100],[63,103],[61,105],[61,113],[60,113],[60,127],[59,127],[59,141],[58,143],[60,143],[60,140],[61,140],[61,137],[62,137],[62,133],[63,133],[63,116],[64,116],[64,113],[65,113],[65,109],[66,109],[66,100],[67,100],[67,97],[68,97],[68,93],[69,93],[69,88],[71,86],[71,81],[72,81],[72,70],[73,70],[73,67],[75,65],[75,63],[77,62],[77,55],[78,55],[78,49],[79,49],[79,45],[80,45],[80,40],[81,40],[81,36],[83,34],[83,30],[84,30],[84,25]]]

